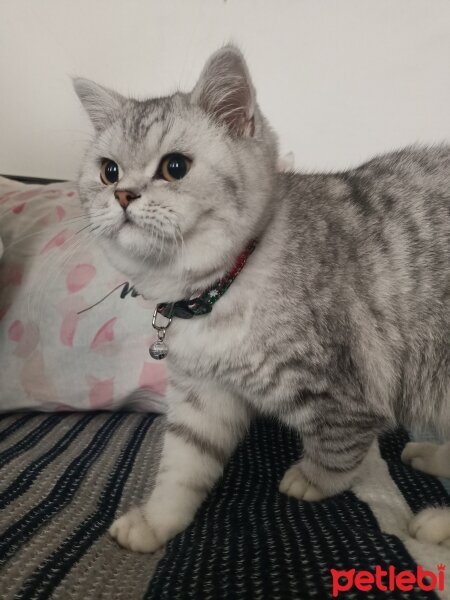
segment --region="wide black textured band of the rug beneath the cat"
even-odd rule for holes
[[[385,436],[382,455],[415,510],[449,503],[433,477],[400,461],[403,431]],[[295,433],[272,422],[255,424],[195,522],[172,540],[146,600],[303,600],[333,598],[331,569],[414,571],[394,536],[383,533],[369,506],[351,492],[303,503],[278,492],[284,471],[301,452]],[[450,565],[449,565],[450,567]],[[341,598],[436,598],[432,592],[358,592]]]

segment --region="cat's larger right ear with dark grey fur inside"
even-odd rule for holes
[[[191,101],[224,123],[233,135],[253,135],[255,90],[244,57],[234,46],[225,46],[211,56]]]

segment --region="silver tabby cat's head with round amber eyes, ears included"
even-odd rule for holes
[[[182,253],[193,272],[229,266],[264,226],[277,170],[240,51],[213,54],[188,94],[137,101],[74,85],[95,128],[79,180],[93,234],[141,264]]]

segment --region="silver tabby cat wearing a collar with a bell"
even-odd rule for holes
[[[279,489],[309,501],[349,489],[381,432],[449,428],[448,147],[280,173],[234,46],[190,93],[74,85],[95,128],[79,178],[91,235],[155,306],[212,306],[155,313],[168,424],[150,498],[110,528],[122,546],[186,528],[254,415],[301,434]]]

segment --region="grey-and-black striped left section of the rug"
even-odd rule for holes
[[[149,491],[161,419],[27,415],[0,428],[0,598],[142,598],[161,553],[105,532]]]

